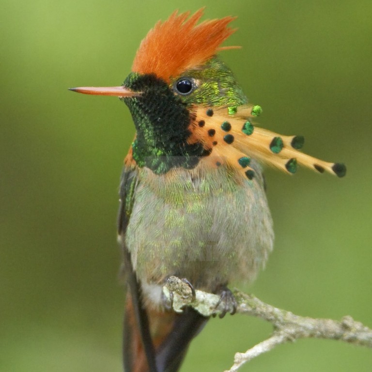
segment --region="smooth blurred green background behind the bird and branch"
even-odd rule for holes
[[[111,97],[140,40],[175,9],[238,16],[223,52],[260,123],[302,134],[305,151],[344,161],[344,179],[267,170],[276,244],[245,289],[312,317],[372,326],[372,2],[1,1],[0,371],[121,371],[118,182],[134,128]],[[271,332],[212,319],[182,371],[223,371]],[[371,371],[371,350],[302,340],[242,371]]]

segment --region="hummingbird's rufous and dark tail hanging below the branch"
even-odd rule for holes
[[[124,318],[124,370],[149,372],[135,311],[131,296],[127,294]],[[191,308],[186,308],[182,314],[174,311],[147,310],[147,319],[157,372],[178,371],[190,341],[208,320]]]

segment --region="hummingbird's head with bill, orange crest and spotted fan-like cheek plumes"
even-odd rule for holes
[[[252,179],[249,163],[254,158],[288,173],[296,171],[298,161],[343,176],[343,164],[298,152],[301,136],[280,136],[253,125],[261,108],[247,104],[233,73],[216,56],[236,48],[221,47],[235,31],[229,27],[234,18],[198,24],[202,14],[203,9],[192,16],[174,12],[159,21],[142,40],[122,86],[72,90],[120,97],[137,130],[133,159],[156,174],[191,169],[203,159],[207,166],[224,164]]]

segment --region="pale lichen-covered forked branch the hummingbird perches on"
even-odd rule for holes
[[[196,290],[194,296],[190,286],[176,277],[168,279],[163,287],[163,294],[169,306],[177,312],[182,312],[185,306],[191,306],[202,315],[211,316],[224,313],[226,306],[229,306],[221,302],[217,294]],[[233,295],[237,302],[237,313],[248,314],[270,322],[274,326],[274,332],[270,338],[245,353],[236,353],[233,366],[225,372],[235,372],[244,363],[270,351],[275,346],[302,338],[341,340],[372,348],[372,329],[356,322],[350,316],[345,316],[341,321],[314,319],[275,308],[251,294],[236,290]]]

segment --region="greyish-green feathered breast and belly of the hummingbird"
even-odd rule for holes
[[[245,180],[202,162],[162,175],[142,168],[125,243],[148,284],[176,275],[213,291],[253,279],[273,243],[262,179]]]

